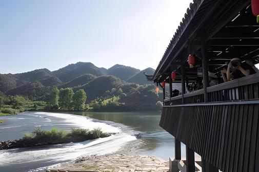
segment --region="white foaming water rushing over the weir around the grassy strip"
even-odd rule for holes
[[[28,115],[39,118],[48,117],[48,120],[51,120],[51,118],[60,119],[64,122],[64,125],[71,125],[71,127],[89,128],[90,130],[95,127],[101,127],[103,132],[118,134],[80,143],[0,150],[0,171],[28,171],[29,169],[74,160],[81,156],[113,153],[127,142],[136,139],[135,136],[123,133],[119,127],[114,127],[102,122],[94,122],[92,119],[84,116],[45,112],[37,112]],[[55,122],[56,120],[51,121],[51,123]],[[42,123],[33,124],[34,126],[38,126]]]

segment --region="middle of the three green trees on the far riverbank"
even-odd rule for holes
[[[58,103],[59,106],[61,106],[61,108],[63,110],[71,110],[72,109],[72,100],[73,100],[73,89],[72,88],[66,88],[66,89],[60,89],[59,90],[59,99],[58,99]]]

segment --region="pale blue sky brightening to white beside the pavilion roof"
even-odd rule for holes
[[[0,73],[156,69],[191,0],[0,0]]]

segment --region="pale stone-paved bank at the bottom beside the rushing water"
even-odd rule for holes
[[[46,172],[167,172],[169,162],[153,156],[107,154],[93,155],[71,164],[48,168]]]

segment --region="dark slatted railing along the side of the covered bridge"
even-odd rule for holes
[[[208,102],[252,100],[259,98],[259,73],[207,88]],[[165,105],[182,104],[182,95],[166,99]],[[204,89],[184,94],[184,103],[202,103]]]

